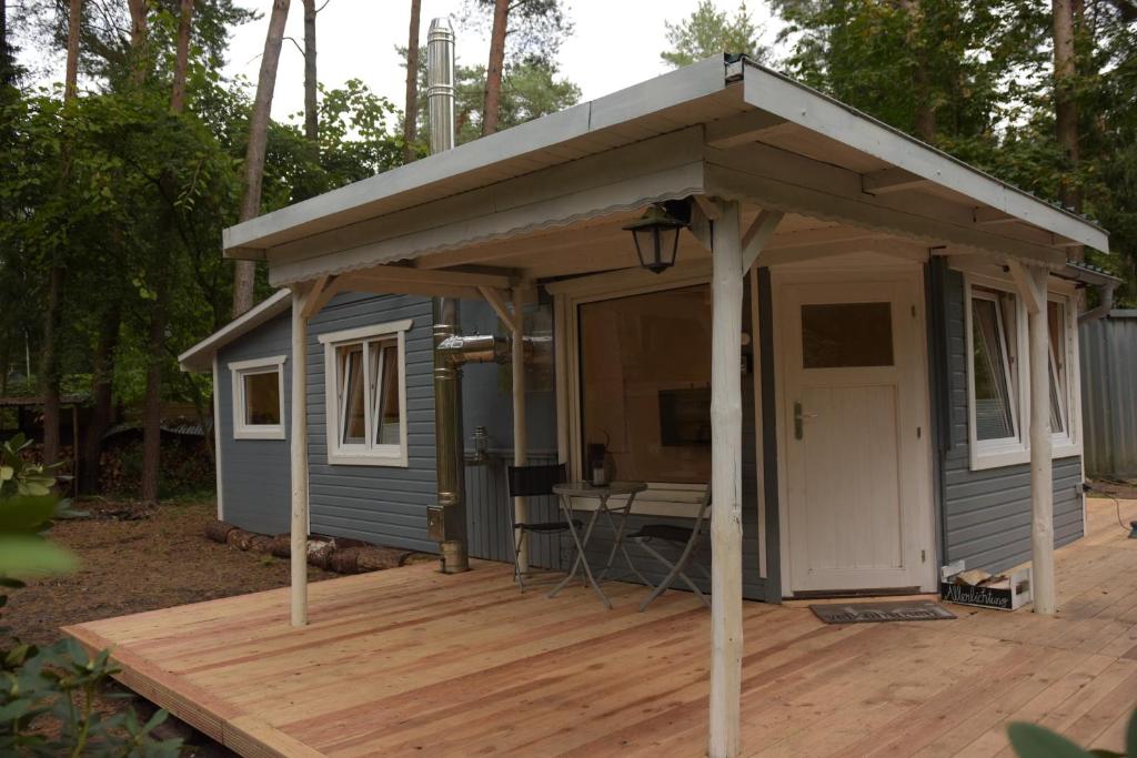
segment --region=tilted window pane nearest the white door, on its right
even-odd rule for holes
[[[971,369],[974,381],[976,439],[1002,440],[1015,436],[1012,357],[1007,345],[1007,322],[1013,323],[1014,302],[1009,293],[971,299]]]

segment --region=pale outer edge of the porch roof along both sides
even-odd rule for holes
[[[224,232],[225,255],[272,261],[276,245],[747,110],[800,127],[779,148],[816,148],[821,138],[830,152],[847,148],[843,157],[854,164],[895,167],[977,207],[1109,249],[1107,233],[1094,222],[748,59],[715,56],[232,226]]]

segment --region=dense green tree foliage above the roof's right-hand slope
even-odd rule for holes
[[[796,78],[908,133],[931,114],[938,148],[1044,199],[1063,181],[1111,231],[1088,251],[1137,302],[1137,11],[1095,0],[1076,30],[1081,160],[1054,135],[1051,3],[1032,0],[773,0]],[[927,126],[926,126],[927,128]]]

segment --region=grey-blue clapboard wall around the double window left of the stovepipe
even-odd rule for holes
[[[319,335],[409,318],[406,336],[407,467],[327,463],[324,345]],[[341,294],[308,328],[308,463],[312,531],[434,552],[426,507],[437,501],[431,302],[410,295]],[[288,456],[285,452],[285,461]]]

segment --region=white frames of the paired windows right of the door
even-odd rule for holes
[[[974,384],[974,343],[972,327],[972,293],[976,286],[1009,292],[1015,297],[1015,355],[1018,359],[1011,368],[1011,380],[1019,389],[1016,408],[1012,410],[1015,418],[1015,436],[1004,440],[978,440],[976,430],[976,384]],[[1078,328],[1072,288],[1060,282],[1051,282],[1047,299],[1062,302],[1064,307],[1064,325],[1062,344],[1065,348],[1067,390],[1065,410],[1067,428],[1052,435],[1052,452],[1054,458],[1069,458],[1081,455],[1081,390],[1080,370],[1078,366]],[[1002,318],[1002,314],[999,314]],[[1030,350],[1027,305],[1018,292],[1014,282],[973,272],[964,272],[964,338],[966,344],[968,370],[968,449],[971,458],[971,469],[982,470],[1030,463],[1030,373],[1027,361]],[[1004,327],[1005,333],[1005,327]],[[1007,356],[1010,359],[1010,356]],[[1048,370],[1051,368],[1048,367]],[[1049,407],[1049,398],[1047,398]]]

